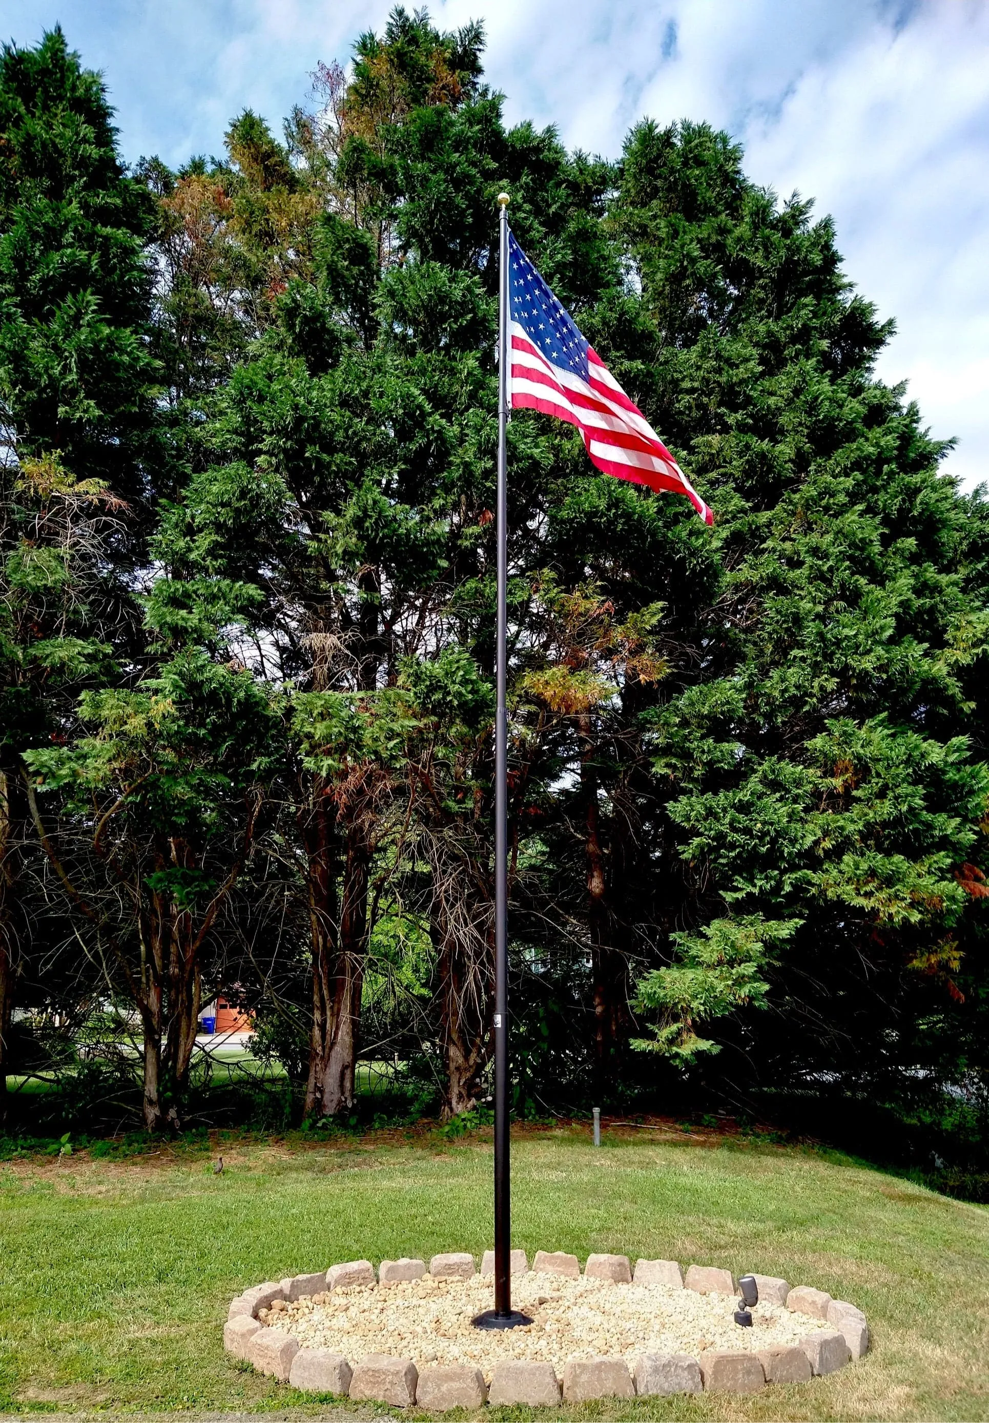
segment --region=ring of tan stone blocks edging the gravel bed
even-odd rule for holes
[[[481,1274],[492,1272],[494,1257],[487,1251]],[[844,1299],[832,1299],[824,1289],[797,1285],[774,1275],[756,1275],[760,1298],[786,1305],[794,1313],[825,1321],[832,1333],[808,1335],[794,1346],[777,1346],[758,1353],[709,1349],[699,1359],[690,1355],[643,1353],[629,1369],[625,1359],[568,1359],[564,1377],[558,1379],[551,1363],[531,1359],[502,1359],[495,1365],[487,1389],[475,1368],[451,1365],[417,1372],[411,1359],[369,1355],[347,1360],[327,1349],[300,1349],[297,1340],[277,1328],[286,1302],[306,1295],[327,1295],[353,1285],[390,1284],[418,1279],[425,1272],[440,1278],[465,1279],[477,1272],[474,1257],[465,1251],[434,1255],[428,1266],[421,1259],[381,1261],[377,1275],[367,1259],[342,1261],[326,1271],[293,1275],[280,1284],[265,1281],[245,1289],[231,1301],[223,1326],[223,1348],[236,1359],[246,1359],[260,1373],[273,1375],[295,1387],[369,1399],[408,1407],[420,1403],[435,1412],[448,1407],[477,1407],[490,1403],[525,1403],[558,1406],[603,1397],[633,1397],[656,1393],[756,1393],[773,1383],[800,1383],[834,1373],[861,1359],[869,1346],[865,1315]],[[512,1251],[512,1274],[527,1274],[524,1251]],[[532,1268],[578,1279],[581,1262],[562,1251],[538,1251]],[[592,1279],[616,1282],[663,1284],[680,1289],[734,1294],[731,1271],[716,1265],[690,1265],[686,1272],[673,1259],[639,1259],[632,1271],[626,1255],[589,1255],[583,1274]],[[265,1315],[260,1319],[260,1315]],[[417,1396],[421,1392],[421,1399]]]

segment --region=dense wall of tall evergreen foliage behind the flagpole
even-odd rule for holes
[[[989,1072],[985,498],[875,379],[892,326],[811,202],[706,124],[618,164],[508,127],[482,43],[396,9],[285,142],[245,110],[222,161],[139,178],[58,31],[4,51],[0,710],[85,881],[51,932],[84,901],[132,965],[114,875],[196,921],[189,982],[238,983],[293,1081],[313,982],[359,965],[354,1020],[474,1110],[507,188],[717,515],[511,421],[519,1110],[670,1094],[666,1057],[939,1120]]]

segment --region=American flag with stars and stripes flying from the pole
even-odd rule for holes
[[[511,231],[508,313],[512,410],[541,410],[566,420],[578,427],[591,462],[605,474],[650,490],[686,494],[704,524],[713,524],[714,515],[680,465],[581,336]]]

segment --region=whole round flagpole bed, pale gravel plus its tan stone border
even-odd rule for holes
[[[347,1261],[239,1295],[226,1349],[299,1389],[433,1412],[599,1397],[753,1393],[832,1373],[868,1349],[865,1315],[811,1286],[710,1265],[511,1254],[529,1322],[484,1331],[492,1252]],[[740,1309],[731,1319],[731,1296]],[[740,1331],[739,1313],[750,1323]]]

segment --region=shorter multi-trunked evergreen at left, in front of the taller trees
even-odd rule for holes
[[[199,609],[201,638],[216,610],[215,596]],[[38,837],[78,938],[105,965],[107,993],[138,1016],[142,1117],[161,1131],[182,1120],[199,1012],[222,986],[218,925],[255,850],[277,727],[266,689],[194,643],[168,585],[151,622],[165,636],[178,622],[182,638],[165,642],[154,675],[134,690],[85,693],[81,734],[24,758]],[[36,785],[61,793],[55,831],[46,831]]]

